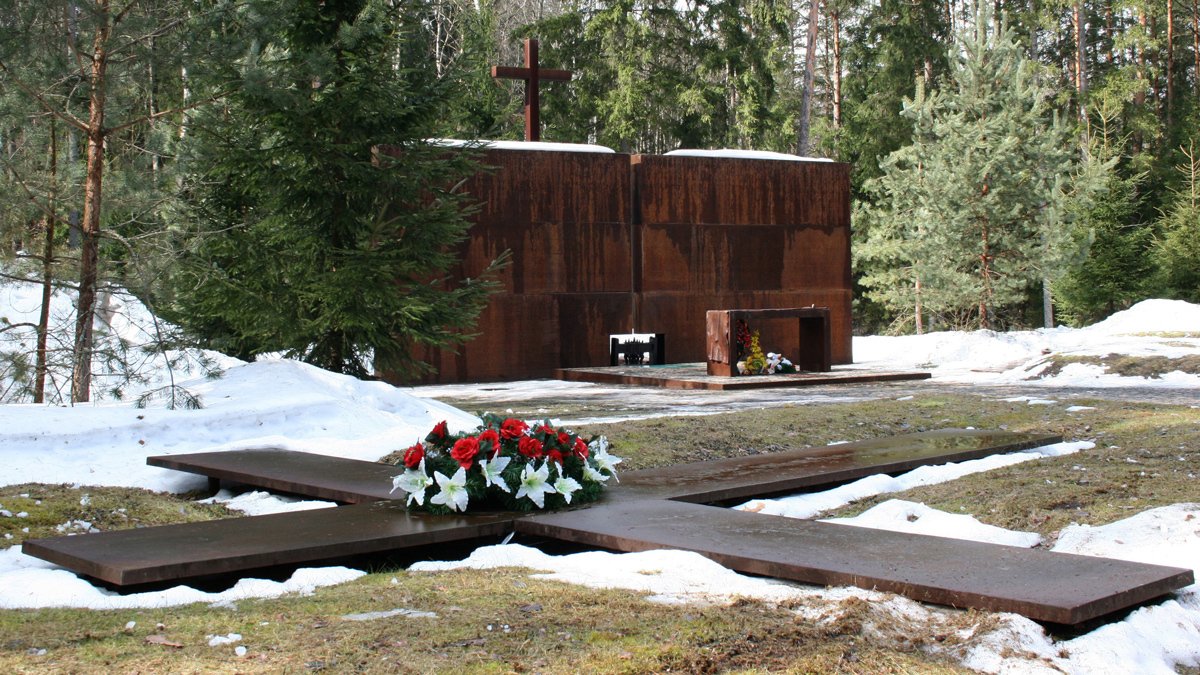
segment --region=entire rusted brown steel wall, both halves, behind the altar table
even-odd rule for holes
[[[708,310],[828,306],[833,363],[851,363],[850,167],[833,162],[488,150],[492,173],[457,277],[505,249],[504,291],[427,382],[551,377],[607,365],[607,336],[664,333],[703,362]],[[798,341],[764,322],[764,350]]]

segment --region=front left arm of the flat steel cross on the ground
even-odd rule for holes
[[[403,502],[374,502],[30,539],[23,551],[128,586],[500,536],[512,518],[412,515]]]

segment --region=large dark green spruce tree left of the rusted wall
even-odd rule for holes
[[[426,142],[455,91],[412,0],[252,2],[238,85],[193,125],[172,316],[210,346],[367,376],[462,341],[485,281],[444,280],[472,171]],[[384,150],[390,148],[390,150]]]

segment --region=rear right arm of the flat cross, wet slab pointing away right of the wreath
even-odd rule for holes
[[[710,503],[835,485],[875,473],[978,459],[1062,441],[1061,436],[942,429],[782,453],[625,472],[613,494]]]

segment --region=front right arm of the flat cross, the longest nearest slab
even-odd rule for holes
[[[1081,623],[1194,581],[1190,569],[762,515],[660,500],[536,515],[518,533],[618,551],[696,551],[749,574],[876,589]]]

